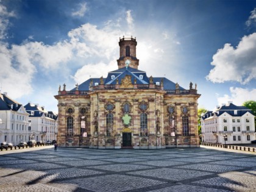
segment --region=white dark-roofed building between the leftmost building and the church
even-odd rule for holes
[[[48,112],[38,104],[24,105],[26,112],[29,113],[30,139],[46,142],[56,140],[58,133],[58,115]]]

